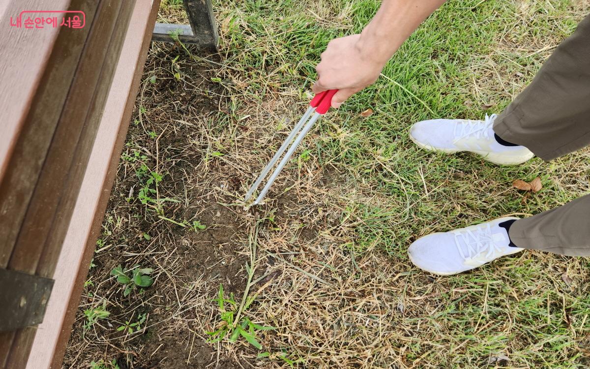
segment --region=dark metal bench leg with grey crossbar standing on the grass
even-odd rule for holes
[[[183,0],[191,25],[156,23],[152,41],[175,42],[175,37],[186,44],[197,44],[217,51],[219,36],[211,0]]]

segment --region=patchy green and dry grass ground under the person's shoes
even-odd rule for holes
[[[179,3],[159,21],[185,22]],[[418,120],[501,112],[587,0],[448,1],[244,208],[327,42],[378,5],[217,1],[219,54],[152,45],[64,367],[590,367],[588,259],[525,251],[440,277],[407,256],[425,234],[590,192],[589,149],[496,166],[408,138]],[[539,192],[512,187],[535,177]],[[117,282],[119,264],[153,284]]]

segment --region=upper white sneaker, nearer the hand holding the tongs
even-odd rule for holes
[[[500,165],[522,164],[535,156],[525,146],[504,146],[496,141],[492,129],[496,116],[486,115],[486,120],[422,120],[412,126],[409,138],[422,149],[447,154],[474,152]]]

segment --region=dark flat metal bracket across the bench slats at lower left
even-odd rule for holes
[[[40,324],[53,279],[0,268],[0,332]]]

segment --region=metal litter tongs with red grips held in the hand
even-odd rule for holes
[[[264,177],[266,177],[268,172],[270,172],[270,169],[273,169],[273,166],[276,164],[281,155],[283,155],[283,152],[285,151],[285,149],[287,149],[287,146],[289,146],[291,141],[293,141],[293,138],[297,136],[295,138],[295,141],[291,143],[289,150],[287,150],[287,154],[283,156],[283,159],[278,164],[277,168],[274,169],[273,174],[271,174],[270,178],[268,178],[268,182],[266,182],[266,185],[264,185],[262,191],[260,191],[260,194],[258,194],[258,197],[254,201],[254,205],[260,204],[260,201],[263,200],[264,195],[266,195],[268,189],[271,187],[271,185],[273,185],[274,180],[277,179],[278,174],[281,172],[281,170],[283,170],[283,167],[287,164],[287,161],[289,161],[291,155],[293,155],[293,152],[295,152],[295,150],[297,149],[297,146],[299,146],[301,141],[303,141],[305,135],[307,135],[307,132],[309,132],[309,130],[312,129],[313,125],[317,122],[317,120],[322,115],[326,114],[326,112],[330,109],[330,106],[332,105],[332,97],[337,91],[338,90],[327,90],[320,92],[319,94],[316,94],[316,96],[313,97],[312,101],[309,103],[307,112],[305,112],[305,114],[301,117],[299,122],[297,122],[293,130],[291,130],[291,133],[289,133],[289,136],[287,136],[285,142],[283,142],[283,145],[281,145],[281,147],[278,149],[276,154],[274,154],[270,162],[264,167],[263,171],[260,173],[252,187],[250,187],[250,190],[248,190],[248,192],[246,193],[244,201],[250,200],[252,194],[254,194],[254,191],[256,191],[260,183],[263,181]],[[309,119],[310,116],[312,117],[312,119]],[[309,122],[307,121],[308,119]],[[303,129],[301,129],[301,127],[303,127]]]

